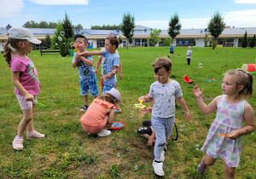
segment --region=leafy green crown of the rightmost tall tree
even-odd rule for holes
[[[217,41],[218,36],[224,31],[225,28],[224,17],[217,11],[210,22],[208,23],[208,31],[212,35],[212,41]]]

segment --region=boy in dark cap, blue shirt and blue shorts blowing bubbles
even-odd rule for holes
[[[81,88],[80,94],[84,98],[84,107],[80,108],[80,111],[85,111],[89,107],[88,105],[88,94],[96,98],[99,95],[98,86],[96,84],[96,75],[93,69],[93,58],[90,55],[81,55],[86,52],[88,46],[88,40],[81,34],[73,35],[73,40],[77,43],[79,53],[73,55],[73,67],[78,67],[79,71],[79,84]]]

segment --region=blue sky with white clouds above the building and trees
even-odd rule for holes
[[[0,0],[0,27],[22,26],[26,21],[63,20],[73,25],[119,25],[123,14],[134,15],[136,25],[167,29],[177,12],[183,29],[206,28],[217,11],[226,26],[256,27],[256,0]]]

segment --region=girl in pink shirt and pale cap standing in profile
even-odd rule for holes
[[[9,30],[9,38],[4,45],[4,58],[12,72],[12,83],[15,85],[15,95],[20,103],[23,118],[18,127],[18,134],[13,141],[15,150],[23,149],[23,134],[27,129],[26,138],[44,138],[43,134],[33,129],[32,116],[37,95],[40,93],[38,72],[33,62],[26,56],[32,52],[33,44],[41,43],[33,37],[30,30],[23,27],[13,27]]]

